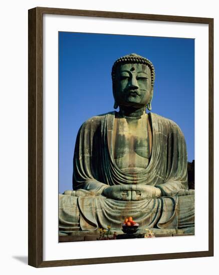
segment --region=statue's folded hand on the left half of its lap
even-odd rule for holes
[[[131,200],[132,184],[112,185],[106,187],[102,195],[116,200]]]

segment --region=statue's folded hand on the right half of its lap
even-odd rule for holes
[[[131,200],[142,200],[145,198],[157,198],[161,196],[161,190],[151,185],[133,184]]]

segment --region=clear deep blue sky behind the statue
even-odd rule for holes
[[[112,111],[111,68],[135,52],[155,67],[152,112],[174,120],[194,159],[194,39],[59,32],[59,191],[72,189],[73,153],[81,124]]]

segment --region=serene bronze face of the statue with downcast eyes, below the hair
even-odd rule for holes
[[[152,92],[151,71],[147,65],[121,64],[117,67],[114,97],[120,106],[146,106]]]

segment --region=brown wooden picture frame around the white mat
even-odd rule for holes
[[[110,256],[66,260],[43,260],[43,15],[59,14],[200,23],[208,25],[208,250]],[[213,19],[171,15],[125,13],[36,7],[29,10],[29,265],[34,267],[65,266],[95,263],[144,261],[213,256]]]

